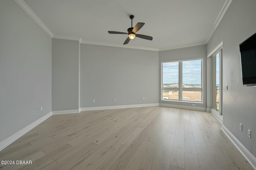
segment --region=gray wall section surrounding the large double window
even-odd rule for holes
[[[194,47],[186,47],[181,49],[173,49],[159,52],[159,103],[173,104],[182,106],[192,106],[191,102],[176,102],[161,100],[161,63],[164,61],[177,61],[182,59],[203,58],[203,104],[196,103],[196,107],[206,108],[206,45],[198,45]],[[194,103],[193,103],[194,104]]]

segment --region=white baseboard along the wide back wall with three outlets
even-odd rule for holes
[[[100,107],[82,107],[81,111],[89,111],[89,110],[105,110],[105,109],[123,109],[123,108],[132,108],[132,107],[152,107],[159,106],[158,103],[153,104],[133,104],[133,105],[120,105],[120,106],[100,106]]]

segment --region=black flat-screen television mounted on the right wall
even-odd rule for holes
[[[256,33],[240,44],[243,86],[256,86]]]

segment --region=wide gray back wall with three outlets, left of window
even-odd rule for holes
[[[158,103],[158,52],[81,44],[80,81],[80,107]]]

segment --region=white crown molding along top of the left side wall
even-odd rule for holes
[[[26,13],[28,13],[28,15],[34,21],[36,21],[36,23],[38,23],[40,27],[42,27],[42,29],[44,29],[46,33],[48,33],[48,35],[50,35],[50,37],[53,37],[52,31],[50,31],[50,29],[46,27],[43,21],[41,21],[40,18],[38,18],[38,16],[29,8],[29,6],[23,0],[15,0],[15,1],[21,6],[21,8],[23,8],[24,11],[26,11]]]

